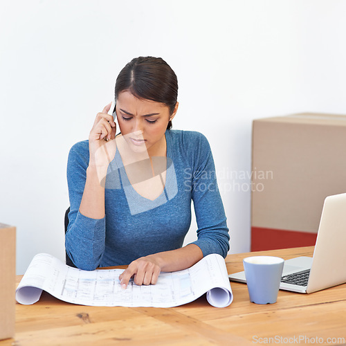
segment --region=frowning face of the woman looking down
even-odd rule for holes
[[[174,113],[161,102],[136,98],[129,91],[119,93],[116,100],[116,115],[122,136],[134,152],[147,149],[149,155],[160,152],[165,145],[167,124]]]

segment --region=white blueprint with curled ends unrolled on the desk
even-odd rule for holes
[[[225,260],[217,254],[183,271],[161,272],[158,282],[148,286],[137,286],[131,280],[127,289],[122,289],[119,275],[123,271],[82,271],[40,253],[21,279],[16,299],[20,304],[33,304],[46,291],[65,302],[104,307],[176,307],[204,293],[214,307],[227,307],[233,301]]]

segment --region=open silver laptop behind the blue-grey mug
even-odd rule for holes
[[[246,283],[244,271],[228,276]],[[325,199],[313,257],[286,260],[280,289],[312,293],[345,282],[346,193]]]

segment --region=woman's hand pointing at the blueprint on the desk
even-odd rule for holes
[[[134,283],[137,285],[156,284],[158,275],[161,273],[161,266],[155,255],[140,257],[131,262],[127,269],[119,276],[122,289],[126,289],[129,280],[134,276]]]

